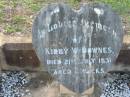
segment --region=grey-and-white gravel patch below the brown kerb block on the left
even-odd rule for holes
[[[23,71],[8,71],[0,74],[0,97],[22,97],[30,95],[26,89],[29,75]]]

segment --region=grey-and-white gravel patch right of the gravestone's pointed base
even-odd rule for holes
[[[101,86],[100,97],[130,97],[130,74],[113,73]]]

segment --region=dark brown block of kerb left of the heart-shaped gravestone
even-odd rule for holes
[[[4,70],[41,71],[41,63],[32,48],[32,43],[7,43],[2,47]]]

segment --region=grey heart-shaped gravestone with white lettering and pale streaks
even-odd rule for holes
[[[65,4],[42,9],[33,24],[33,46],[45,69],[82,93],[111,69],[122,46],[119,16],[104,4]]]

